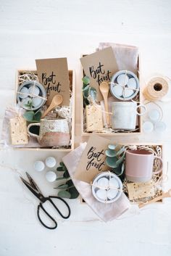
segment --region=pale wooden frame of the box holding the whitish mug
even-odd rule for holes
[[[85,57],[86,54],[83,54],[81,55],[81,57]],[[84,77],[84,71],[83,71],[83,68],[82,68],[82,78]],[[141,94],[141,86],[142,86],[142,82],[141,82],[141,57],[140,57],[140,54],[138,55],[138,72],[137,72],[137,77],[139,79],[139,84],[140,84],[140,91],[138,92],[138,97],[139,97],[139,102],[142,101],[142,94]],[[82,82],[83,84],[83,82]],[[129,135],[138,135],[138,134],[141,134],[142,133],[142,118],[141,118],[141,115],[138,116],[138,131],[134,131],[134,132],[117,132],[117,133],[114,133],[114,132],[111,132],[111,133],[101,133],[101,132],[85,132],[84,131],[84,108],[83,108],[83,92],[81,91],[81,134],[82,136],[91,136],[93,134],[96,134],[96,135],[101,135],[101,136],[129,136]],[[115,99],[114,98],[114,102],[122,102],[120,101],[120,99]],[[141,112],[141,110],[140,110]]]

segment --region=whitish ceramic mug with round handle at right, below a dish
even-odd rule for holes
[[[143,107],[143,112],[138,113],[137,109]],[[112,129],[134,130],[137,115],[143,115],[146,107],[136,102],[112,102]]]

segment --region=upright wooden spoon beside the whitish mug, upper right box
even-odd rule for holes
[[[109,94],[109,83],[102,82],[100,84],[99,88],[101,91],[101,95],[104,98],[104,108],[105,108],[105,112],[106,112],[107,125],[110,125],[109,106],[108,106],[108,102],[107,102],[107,97]]]

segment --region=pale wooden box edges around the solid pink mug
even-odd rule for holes
[[[162,160],[163,160],[163,168],[162,168],[162,174],[164,174],[165,173],[165,166],[164,166],[164,146],[162,145],[162,144],[158,144],[158,143],[124,143],[124,144],[120,144],[120,145],[123,145],[123,146],[131,146],[131,145],[136,145],[136,146],[160,146],[161,147],[161,149],[162,149]],[[162,185],[162,187],[163,187],[163,185]],[[159,201],[157,201],[157,202],[155,202],[155,204],[156,203],[159,203],[159,204],[161,204],[161,203],[163,203],[163,201],[164,201],[164,199],[162,199],[162,200],[159,200]],[[81,204],[83,204],[83,205],[86,205],[86,202],[83,200],[83,198],[82,197],[80,197],[80,203]],[[135,204],[138,204],[138,203],[135,203]]]

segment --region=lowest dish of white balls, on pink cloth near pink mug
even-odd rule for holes
[[[110,204],[117,201],[122,194],[122,181],[114,173],[99,173],[93,179],[92,193],[99,202]]]

